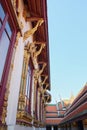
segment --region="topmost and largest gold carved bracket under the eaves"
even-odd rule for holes
[[[26,40],[28,37],[30,37],[31,35],[33,35],[39,26],[41,26],[41,24],[44,22],[44,20],[41,18],[40,20],[38,20],[36,26],[34,28],[32,28],[31,30],[28,30],[24,33],[24,40]]]

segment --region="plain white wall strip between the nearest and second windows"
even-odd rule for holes
[[[14,66],[11,75],[10,87],[9,87],[9,97],[8,97],[8,107],[7,107],[7,125],[14,125],[16,122],[16,113],[18,105],[18,96],[20,89],[21,73],[22,73],[22,63],[24,55],[24,44],[23,38],[20,38],[19,44],[16,48]]]

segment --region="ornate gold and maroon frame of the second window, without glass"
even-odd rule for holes
[[[31,78],[30,78],[30,88],[29,88],[30,89],[29,105],[28,105],[28,110],[26,110],[26,82],[27,82],[26,79],[27,79],[28,66],[31,66]],[[27,45],[26,45],[24,49],[24,59],[23,59],[23,66],[22,66],[16,123],[19,123],[22,120],[23,123],[26,122],[28,124],[31,124],[31,121],[33,119],[32,112],[31,112],[33,73],[34,73],[33,62],[30,57],[29,51],[27,50]],[[27,120],[29,120],[30,122],[28,122]]]

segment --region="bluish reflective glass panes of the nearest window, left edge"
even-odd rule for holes
[[[12,28],[10,22],[10,16],[8,10],[3,9],[3,4],[0,3],[0,84],[2,84],[2,76],[6,68],[8,57],[8,51],[11,49],[12,40]]]

